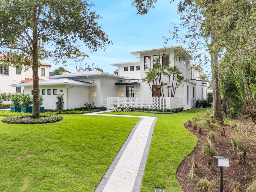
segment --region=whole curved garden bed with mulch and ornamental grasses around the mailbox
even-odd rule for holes
[[[208,129],[203,129],[201,134],[198,129],[185,127],[198,138],[198,144],[195,150],[182,162],[177,171],[177,179],[184,192],[201,191],[202,186],[209,191],[220,191],[220,167],[210,162],[209,159],[202,156],[202,146],[207,142]],[[256,174],[256,126],[250,119],[239,117],[230,121],[230,125],[220,125],[219,128],[213,128],[216,135],[216,142],[212,142],[217,151],[215,156],[224,156],[229,158],[230,167],[223,167],[223,191],[247,191],[252,184]],[[225,136],[223,134],[225,130]],[[237,145],[231,145],[232,140],[239,141]],[[238,146],[238,147],[237,147]],[[239,148],[239,149],[237,149]],[[244,162],[244,151],[246,151],[246,160]],[[194,177],[191,175],[194,173]],[[189,175],[189,177],[188,177]],[[254,178],[253,178],[254,176]],[[193,177],[191,179],[191,177]],[[189,179],[188,179],[189,178]],[[198,186],[202,179],[206,178],[209,185]],[[206,180],[204,180],[205,182]],[[212,189],[210,189],[210,186]],[[248,190],[254,192],[254,188]],[[239,190],[238,190],[239,188]]]

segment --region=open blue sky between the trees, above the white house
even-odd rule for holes
[[[90,56],[84,62],[91,65],[98,65],[104,72],[113,73],[117,69],[111,63],[139,60],[130,52],[163,47],[163,37],[169,35],[174,25],[181,23],[177,14],[177,2],[172,4],[169,1],[158,0],[155,9],[150,9],[146,15],[136,15],[136,9],[128,0],[98,0],[89,1],[95,4],[91,7],[101,15],[98,23],[102,25],[103,31],[109,35],[112,45],[103,50],[91,53],[86,47],[83,52]],[[169,41],[166,46],[176,46],[176,41]],[[186,48],[186,45],[182,45]],[[51,63],[51,60],[44,60]],[[67,63],[72,63],[68,61]],[[50,71],[62,65],[52,64]],[[77,72],[73,65],[65,67],[68,71]]]

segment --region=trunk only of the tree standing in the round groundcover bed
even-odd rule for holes
[[[39,77],[38,77],[38,34],[37,34],[37,7],[32,13],[33,41],[32,41],[32,70],[33,70],[33,113],[31,118],[40,118],[39,112]]]

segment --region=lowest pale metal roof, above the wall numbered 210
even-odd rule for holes
[[[88,83],[88,82],[83,82],[83,81],[77,81],[73,79],[47,79],[47,80],[42,80],[39,81],[39,85],[66,85],[66,84],[71,84],[71,85],[81,85],[81,86],[95,86],[96,84],[94,83]],[[26,83],[18,83],[18,84],[12,84],[10,85],[11,87],[19,87],[19,86],[33,86],[33,82],[26,82]]]

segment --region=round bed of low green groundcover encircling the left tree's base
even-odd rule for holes
[[[60,115],[41,115],[44,118],[41,119],[24,119],[29,118],[32,115],[18,115],[18,116],[9,116],[2,120],[3,123],[13,123],[13,124],[41,124],[41,123],[53,123],[60,121],[62,117]]]

